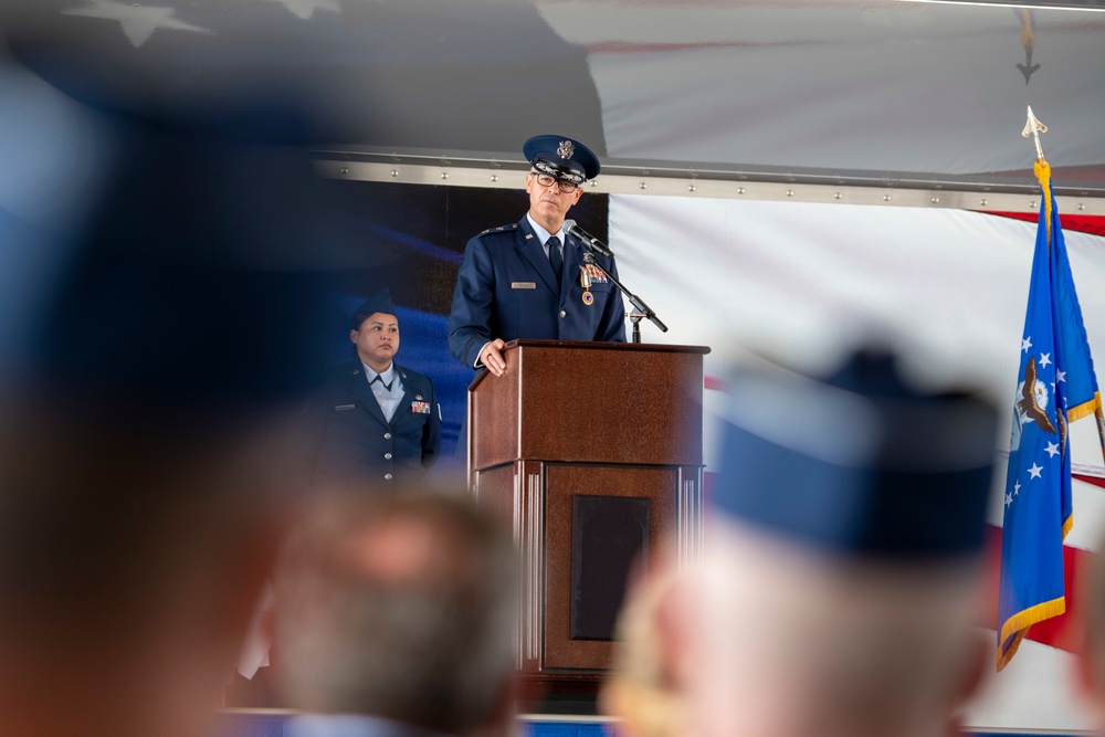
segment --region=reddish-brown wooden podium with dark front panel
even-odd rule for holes
[[[506,373],[469,387],[471,488],[513,526],[522,556],[527,680],[593,689],[640,552],[697,557],[707,352],[514,340]]]

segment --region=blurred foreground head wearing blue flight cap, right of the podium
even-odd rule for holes
[[[948,734],[977,686],[993,408],[860,354],[740,376],[670,676],[702,737]]]

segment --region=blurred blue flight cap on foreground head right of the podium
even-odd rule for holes
[[[732,378],[715,513],[832,555],[938,561],[982,550],[997,412],[908,386],[885,352],[832,377]]]

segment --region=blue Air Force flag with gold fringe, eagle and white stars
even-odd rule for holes
[[[1095,412],[1101,393],[1066,246],[1040,159],[1043,186],[1004,491],[998,670],[1029,627],[1066,611],[1063,538],[1073,523],[1067,422]]]

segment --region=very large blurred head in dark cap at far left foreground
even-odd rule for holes
[[[0,734],[202,734],[306,470],[309,161],[21,78],[75,181],[0,175]]]

